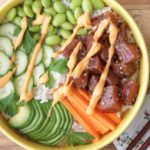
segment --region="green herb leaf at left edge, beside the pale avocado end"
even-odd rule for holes
[[[4,112],[9,116],[14,116],[17,113],[16,101],[18,98],[11,93],[9,96],[0,100],[0,112]]]

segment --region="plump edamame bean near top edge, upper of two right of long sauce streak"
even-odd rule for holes
[[[66,6],[61,1],[54,2],[54,9],[57,13],[65,13],[66,12]]]

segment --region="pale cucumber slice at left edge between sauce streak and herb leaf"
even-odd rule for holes
[[[14,85],[12,81],[9,81],[3,88],[0,88],[0,99],[4,99],[9,96],[11,93],[14,93]]]

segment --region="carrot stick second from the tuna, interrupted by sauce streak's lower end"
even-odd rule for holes
[[[83,101],[83,98],[81,95],[79,95],[76,90],[72,88],[72,94],[71,94],[72,102],[76,103],[78,107],[83,109],[86,112],[86,108],[88,107],[88,103],[86,101]],[[96,118],[101,124],[109,128],[110,130],[114,131],[115,130],[115,124],[110,121],[107,117],[104,116],[104,114],[99,113],[98,111],[95,111],[94,114],[92,115],[94,118]]]

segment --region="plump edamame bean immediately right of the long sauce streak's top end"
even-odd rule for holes
[[[60,26],[62,23],[64,23],[66,21],[66,16],[65,14],[56,14],[53,18],[52,24],[55,27]]]

